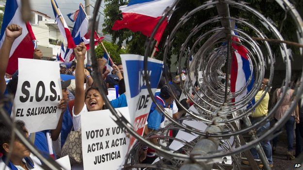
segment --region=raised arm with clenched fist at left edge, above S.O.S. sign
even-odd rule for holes
[[[6,89],[5,72],[9,60],[9,55],[13,43],[17,37],[22,34],[22,28],[12,24],[5,30],[5,39],[0,49],[0,93],[4,93]]]

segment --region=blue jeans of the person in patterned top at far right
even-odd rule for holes
[[[278,122],[278,120],[275,120],[275,121]],[[294,123],[295,123],[295,117],[291,116],[285,124],[286,134],[287,134],[287,149],[288,149],[288,151],[293,150],[293,141],[294,141],[294,129],[293,129],[294,127],[293,126],[294,126]],[[280,131],[281,130],[282,129],[280,129]],[[272,145],[274,147],[277,146],[278,138],[279,138],[279,136],[272,139]]]

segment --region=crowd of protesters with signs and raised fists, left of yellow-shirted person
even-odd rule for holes
[[[3,77],[3,79],[0,79],[0,90],[4,95],[15,96],[17,92],[18,71],[12,76],[6,74],[5,71],[11,46],[21,33],[22,29],[19,26],[10,25],[5,31],[5,41],[0,49],[0,74]],[[63,156],[61,155],[61,148],[66,143],[68,134],[71,131],[81,130],[81,115],[83,112],[106,109],[104,99],[101,95],[102,91],[106,93],[107,98],[114,108],[127,107],[122,64],[114,64],[113,70],[110,72],[109,68],[106,68],[105,66],[106,61],[104,59],[98,59],[98,70],[93,70],[91,65],[84,64],[85,53],[86,46],[84,43],[81,43],[74,49],[76,62],[73,62],[70,67],[67,67],[67,64],[62,63],[60,64],[60,70],[58,69],[61,75],[74,76],[75,79],[61,81],[63,96],[58,103],[58,108],[61,108],[62,112],[56,129],[29,134],[22,121],[16,122],[16,127],[24,132],[24,135],[34,143],[34,146],[46,158],[51,156],[53,159],[57,159]],[[39,49],[34,51],[34,59],[41,60],[42,56],[43,54]],[[102,77],[98,77],[105,80],[105,85],[102,86],[102,89],[96,87],[96,83],[94,83],[92,78],[92,72],[94,71],[103,73]],[[173,84],[174,86],[172,84],[169,84],[169,86],[173,87],[174,92],[180,97],[180,88],[177,90],[176,87],[178,85],[175,83]],[[172,95],[168,90],[168,85],[165,84],[163,77],[161,78],[159,89],[155,97],[163,108],[172,109],[172,115],[175,119],[180,116],[178,114],[180,107],[178,108],[176,103],[172,100]],[[12,106],[13,104],[10,103],[8,107],[6,107],[8,114],[11,113]],[[186,108],[188,108],[187,104]],[[153,104],[150,114],[152,116],[149,117],[147,122],[147,132],[160,128],[164,115],[158,115],[159,113],[160,112]],[[31,154],[19,139],[11,141],[11,133],[10,127],[0,121],[0,153],[2,155],[0,159],[0,168],[6,166],[11,170],[30,170],[42,166],[43,163]],[[148,147],[142,148],[143,152],[146,152],[147,150]],[[8,155],[9,159],[7,160],[6,158]],[[146,155],[141,155],[141,161],[144,161],[145,159]],[[83,169],[83,164],[75,163],[72,167],[73,169]]]

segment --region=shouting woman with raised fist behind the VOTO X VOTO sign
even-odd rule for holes
[[[86,93],[84,91],[84,59],[86,46],[84,43],[78,45],[74,52],[76,54],[76,90],[75,90],[75,105],[73,108],[73,125],[75,131],[80,131],[81,128],[81,113],[87,111],[102,110],[104,100],[98,88],[90,87]]]

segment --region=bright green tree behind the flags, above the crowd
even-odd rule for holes
[[[121,62],[120,54],[126,54],[127,50],[120,48],[118,45],[113,44],[111,42],[103,41],[103,45],[105,46],[107,52],[109,53],[110,57],[112,58],[113,62]],[[96,48],[96,55],[97,58],[101,58],[104,55],[104,50],[99,44]]]

